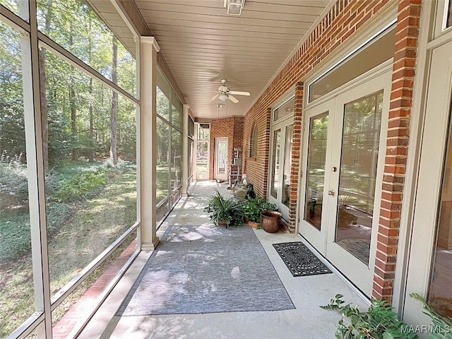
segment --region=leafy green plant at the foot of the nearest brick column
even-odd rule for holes
[[[416,333],[408,331],[406,323],[398,319],[398,314],[384,300],[371,300],[367,311],[359,311],[358,307],[345,304],[343,295],[335,295],[330,304],[322,309],[333,309],[342,314],[335,337],[355,339],[413,339]]]

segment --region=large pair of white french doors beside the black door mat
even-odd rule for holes
[[[299,232],[369,297],[390,88],[385,69],[304,114]]]

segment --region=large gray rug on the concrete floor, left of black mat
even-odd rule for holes
[[[169,226],[117,316],[295,309],[251,227]]]

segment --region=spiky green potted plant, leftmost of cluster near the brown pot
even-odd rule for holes
[[[237,198],[222,196],[218,189],[210,196],[204,212],[210,213],[210,219],[215,226],[239,226],[244,220],[243,203]]]

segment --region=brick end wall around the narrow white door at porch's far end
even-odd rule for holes
[[[233,161],[234,148],[243,147],[243,127],[243,117],[212,119],[210,124],[209,179],[215,178],[215,138],[227,138],[227,165],[229,165]],[[240,155],[243,157],[242,153]],[[226,168],[226,171],[228,170],[229,166]]]

